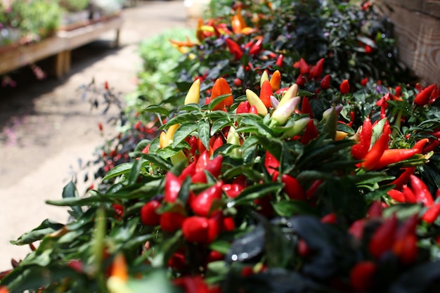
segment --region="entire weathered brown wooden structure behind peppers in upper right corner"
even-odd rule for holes
[[[440,0],[375,0],[394,23],[400,58],[423,85],[440,84]]]

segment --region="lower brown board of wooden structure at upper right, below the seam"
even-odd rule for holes
[[[394,23],[402,62],[420,77],[422,84],[440,84],[440,20],[401,6],[385,13]]]

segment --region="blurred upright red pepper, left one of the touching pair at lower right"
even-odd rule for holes
[[[375,259],[380,259],[380,256],[392,248],[394,244],[394,235],[397,228],[396,214],[389,217],[382,223],[373,233],[373,236],[368,243],[368,250]]]

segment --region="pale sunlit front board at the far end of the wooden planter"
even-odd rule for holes
[[[115,17],[111,18],[110,20],[94,23],[93,25],[80,27],[77,30],[58,32],[57,35],[61,39],[65,39],[68,48],[74,49],[98,39],[101,34],[108,32],[109,30],[119,30],[121,26],[122,18]]]

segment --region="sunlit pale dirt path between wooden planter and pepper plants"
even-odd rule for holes
[[[76,91],[79,86],[94,78],[122,93],[134,91],[141,67],[139,42],[187,25],[183,1],[138,2],[123,11],[119,48],[109,48],[114,34],[105,34],[72,53],[72,71],[65,79],[30,81],[22,70],[15,89],[0,89],[0,271],[10,268],[11,257],[22,259],[29,252],[28,247],[10,245],[10,240],[44,219],[65,223],[65,209],[44,201],[60,199],[72,170],[79,169],[79,159],[91,158],[115,133],[105,127],[100,135],[98,123],[105,124],[112,113],[91,111]]]

